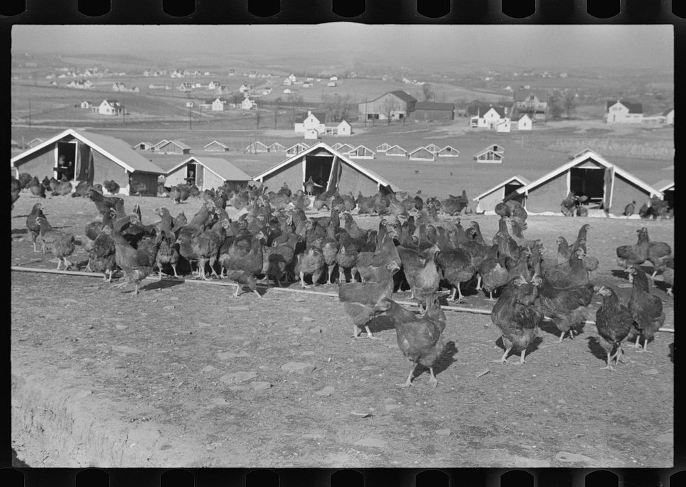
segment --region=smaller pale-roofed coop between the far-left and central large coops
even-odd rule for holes
[[[241,169],[220,157],[191,156],[169,169],[165,185],[196,185],[200,191],[229,186],[245,186],[252,178]]]

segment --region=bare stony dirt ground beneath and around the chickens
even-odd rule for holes
[[[143,222],[167,206],[191,217],[198,200],[141,204]],[[37,200],[23,192],[12,211],[12,265],[55,268],[34,253],[25,219]],[[83,235],[97,219],[80,198],[44,200],[54,226]],[[484,236],[497,217],[476,216]],[[366,217],[361,226],[376,226]],[[469,218],[466,219],[469,222]],[[647,226],[674,243],[674,222],[530,217],[528,238],[549,252],[589,222],[593,282],[628,300],[615,247]],[[72,258],[84,262],[81,248]],[[84,262],[85,263],[85,262]],[[674,300],[657,280],[674,328]],[[294,285],[293,287],[298,287]],[[502,353],[490,316],[447,312],[452,344],[414,387],[388,318],[378,341],[353,339],[337,298],[233,287],[144,281],[139,296],[94,276],[12,272],[12,446],[30,466],[495,467],[672,466],[674,333],[660,332],[626,364],[601,370],[604,354],[587,325],[556,344],[545,327],[523,366]],[[337,292],[335,285],[320,292]],[[408,293],[396,297],[407,298]],[[473,289],[465,307],[490,309]],[[589,319],[600,304],[596,296]]]

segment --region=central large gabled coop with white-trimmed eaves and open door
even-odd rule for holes
[[[291,189],[304,190],[305,181],[310,177],[319,185],[315,193],[324,190],[340,193],[352,191],[357,195],[361,191],[364,195],[372,195],[379,191],[401,191],[394,183],[362,167],[323,142],[257,174],[253,180],[263,182],[274,191],[283,183]]]

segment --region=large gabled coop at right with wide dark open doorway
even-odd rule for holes
[[[608,162],[598,152],[587,150],[510,193],[506,199],[518,200],[532,213],[557,213],[570,191],[586,196],[589,209],[602,209],[613,215],[621,215],[624,206],[632,201],[663,198],[660,191],[646,182]]]

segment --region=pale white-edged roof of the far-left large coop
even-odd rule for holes
[[[91,132],[85,132],[84,130],[76,130],[73,128],[68,128],[67,130],[64,130],[64,132],[60,132],[59,134],[52,136],[50,139],[43,141],[31,149],[14,156],[10,160],[12,167],[31,154],[34,154],[42,150],[44,147],[48,147],[49,145],[56,143],[57,141],[60,141],[68,136],[73,136],[74,139],[78,139],[82,143],[92,147],[97,152],[106,156],[107,158],[110,158],[127,171],[165,174],[165,171],[148,161],[138,152],[134,151],[128,145],[128,143],[122,141],[121,139],[115,139],[115,137],[111,137],[109,135],[93,134]]]

